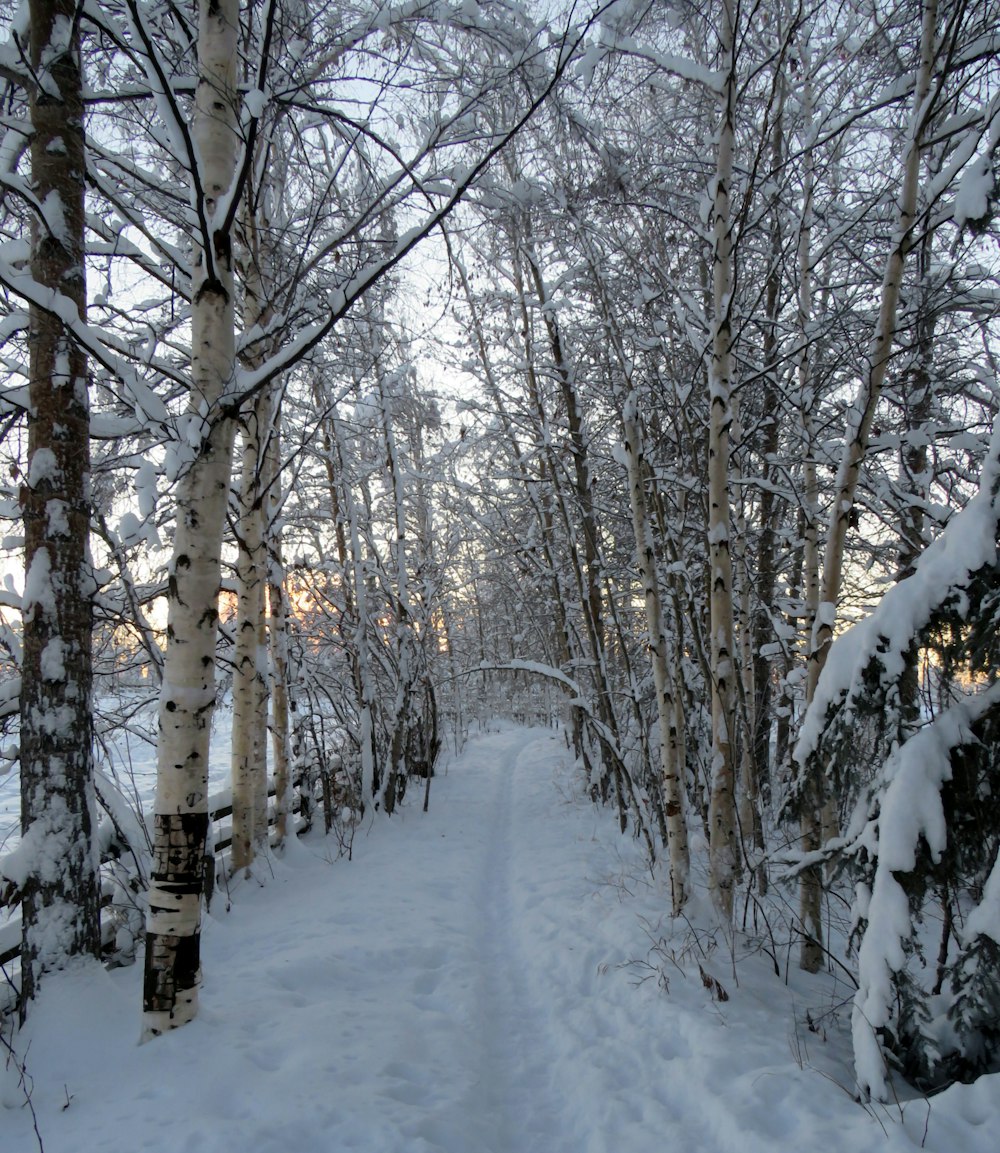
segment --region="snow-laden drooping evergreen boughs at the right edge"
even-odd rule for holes
[[[976,1009],[971,1025],[953,1022],[957,1056],[940,1052],[927,1028],[926,993],[916,987],[905,969],[908,958],[919,952],[912,907],[919,906],[928,883],[969,887],[968,875],[978,867],[972,858],[992,851],[988,830],[985,837],[984,830],[978,830],[980,845],[972,852],[956,843],[956,826],[975,820],[979,789],[969,782],[949,785],[963,751],[985,759],[987,769],[992,767],[990,734],[1000,717],[1000,681],[991,656],[993,642],[980,633],[984,618],[985,627],[993,630],[998,522],[1000,420],[994,424],[977,493],[927,548],[913,574],[833,643],[795,749],[803,776],[805,770],[829,775],[851,758],[857,760],[857,722],[874,717],[879,725],[881,752],[877,751],[877,758],[885,760],[864,789],[851,828],[839,846],[862,874],[855,907],[862,940],[852,1031],[858,1087],[874,1099],[887,1095],[887,1031],[892,1043],[905,1050],[907,1064],[920,1070],[933,1071],[946,1060],[965,1060],[962,1050],[969,1048],[970,1035],[972,1047],[982,1043],[983,1024],[976,1019]],[[986,685],[912,732],[903,715],[904,672],[934,630],[949,626],[953,635],[961,636],[957,648],[963,662],[972,672],[985,673]],[[955,860],[942,865],[946,853]],[[958,862],[963,853],[969,861]],[[973,935],[985,932],[992,936],[993,930],[1000,935],[986,912],[979,921],[982,925],[970,926]],[[962,966],[948,970],[953,992],[958,994],[953,1003],[953,1009],[960,1007],[956,1011],[964,1011],[963,986],[968,989],[970,984],[982,984],[983,977],[968,934],[963,949]],[[943,960],[939,967],[943,973]],[[939,988],[942,979],[939,977]]]

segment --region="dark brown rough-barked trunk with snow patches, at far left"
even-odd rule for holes
[[[45,219],[31,276],[87,311],[84,130],[74,0],[31,0],[31,179]],[[30,309],[21,668],[22,1012],[39,977],[100,955],[93,845],[90,417],[87,357],[54,312]]]

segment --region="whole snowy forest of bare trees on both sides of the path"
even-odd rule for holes
[[[5,1035],[138,957],[165,1043],[228,877],[502,717],[860,1101],[1000,1070],[997,0],[0,28]]]

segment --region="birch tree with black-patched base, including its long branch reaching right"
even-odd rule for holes
[[[284,284],[286,295],[281,303],[286,307],[275,308],[271,324],[263,332],[251,331],[248,341],[266,345],[275,340],[278,348],[258,367],[238,372],[234,221],[251,165],[256,126],[266,104],[275,14],[275,7],[270,7],[257,50],[256,88],[253,99],[247,101],[246,115],[241,115],[235,81],[238,6],[230,0],[221,3],[203,0],[197,32],[198,83],[189,134],[178,115],[175,93],[165,91],[156,46],[148,35],[143,39],[149,54],[150,83],[163,97],[160,106],[166,110],[176,159],[191,176],[197,225],[190,303],[193,407],[185,437],[191,451],[178,485],[178,528],[170,574],[168,647],[158,752],[157,844],[146,947],[146,1035],[190,1019],[197,1004],[208,725],[215,700],[213,646],[220,542],[232,465],[232,416],[292,366],[313,355],[344,321],[351,306],[454,210],[467,189],[558,83],[572,59],[572,46],[579,43],[586,29],[586,22],[582,30],[567,29],[566,39],[556,46],[550,69],[540,68],[534,54],[529,53],[531,67],[519,73],[526,59],[522,55],[525,37],[527,44],[533,44],[537,35],[534,24],[507,22],[503,13],[476,12],[472,21],[464,9],[445,13],[444,22],[460,44],[475,44],[484,36],[495,48],[496,40],[491,37],[499,33],[507,55],[497,62],[494,48],[469,56],[457,44],[438,36],[436,16],[431,20],[431,14],[405,8],[399,14],[399,22],[406,35],[394,42],[403,56],[398,68],[403,73],[409,68],[408,46],[412,38],[420,35],[426,16],[430,21],[427,35],[434,42],[426,51],[437,63],[433,81],[426,88],[427,105],[414,112],[420,130],[409,137],[411,155],[404,160],[400,160],[399,144],[388,137],[385,125],[373,126],[366,121],[352,129],[349,113],[336,114],[341,60],[352,51],[363,56],[367,43],[381,38],[382,25],[361,14],[354,25],[330,29],[343,51],[330,53],[323,47],[317,71],[300,81],[301,89],[293,88],[288,93],[292,108],[298,108],[300,91],[311,90],[321,106],[330,101],[334,110],[329,119],[322,114],[317,116],[313,99],[302,101],[303,121],[298,140],[314,163],[300,172],[299,179],[310,193],[316,188],[318,195],[307,201],[308,212],[300,233],[303,249]],[[296,12],[295,15],[301,14]],[[134,24],[141,32],[137,12]],[[293,54],[288,59],[294,62],[296,58]],[[400,80],[396,63],[384,63],[377,53],[367,59],[376,76],[382,77],[384,91],[391,92],[399,84],[400,91],[407,92],[407,99],[418,103],[413,81],[406,75]],[[473,63],[476,67],[472,67]],[[481,138],[473,129],[469,113],[479,106],[484,92],[498,84],[510,84],[519,75],[526,82],[527,97],[519,89],[511,118],[495,133]],[[453,81],[454,91],[444,77]],[[344,83],[349,85],[353,81]],[[459,96],[453,99],[456,92]],[[345,97],[348,105],[353,105],[353,92],[349,99]],[[429,120],[419,119],[423,112]],[[449,149],[459,144],[471,150],[471,157],[468,164],[456,167]],[[356,197],[338,197],[334,195],[338,176],[355,158],[364,173],[362,187]],[[416,212],[418,204],[422,214],[406,233],[398,238],[374,235],[381,233],[379,221],[386,213],[399,206]],[[287,330],[288,316],[294,316],[298,326],[292,332]]]

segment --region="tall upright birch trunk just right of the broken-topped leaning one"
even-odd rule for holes
[[[736,824],[735,677],[732,624],[732,556],[730,553],[729,429],[732,421],[732,182],[736,111],[736,56],[732,0],[722,0],[720,52],[725,82],[712,209],[713,318],[708,369],[708,558],[712,623],[712,791],[708,806],[709,889],[720,914],[732,917],[734,887],[739,873]]]

